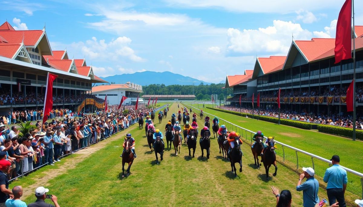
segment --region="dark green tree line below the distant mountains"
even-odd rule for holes
[[[232,93],[232,89],[222,89],[225,84],[204,85],[164,85],[150,84],[142,86],[143,94],[148,95],[195,95],[196,100],[211,100],[212,94],[218,94],[218,98],[222,100]]]

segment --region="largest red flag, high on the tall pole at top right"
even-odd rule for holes
[[[352,58],[352,0],[340,9],[335,35],[335,63]]]

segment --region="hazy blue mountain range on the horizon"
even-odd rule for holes
[[[114,82],[115,84],[122,84],[131,82],[139,85],[150,85],[150,84],[164,84],[164,85],[199,85],[200,83],[211,84],[205,81],[201,81],[189,76],[183,76],[172,72],[154,72],[144,71],[135,72],[132,74],[121,74],[114,76],[101,77],[103,80],[109,83]]]

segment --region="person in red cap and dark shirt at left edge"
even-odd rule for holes
[[[9,180],[7,173],[9,173],[11,163],[7,160],[0,160],[0,207],[5,207],[5,202],[9,195],[13,193],[9,190]]]

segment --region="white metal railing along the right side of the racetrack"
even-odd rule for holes
[[[183,105],[187,105],[187,104],[183,104]],[[190,105],[187,105],[187,106],[192,107],[192,108],[194,108],[194,109],[197,109],[197,108],[196,108],[196,107],[194,107],[194,106],[190,106]],[[197,109],[197,110],[200,110],[200,109]],[[207,113],[207,112],[203,111],[203,114],[209,114],[209,113]],[[209,114],[209,115],[214,116],[214,117],[217,117],[216,115],[213,115],[213,114]],[[218,118],[219,120],[223,120],[224,122],[226,122],[226,123],[230,124],[230,125],[232,126],[232,127],[231,127],[231,128],[232,128],[232,130],[233,130],[233,127],[236,127],[236,132],[238,131],[238,130],[237,130],[237,128],[239,128],[240,130],[245,130],[245,138],[246,138],[246,140],[247,140],[247,132],[249,132],[249,133],[250,133],[250,140],[251,140],[251,144],[252,144],[252,134],[256,134],[256,132],[251,131],[251,130],[248,130],[248,129],[243,128],[243,127],[240,127],[240,126],[237,126],[236,124],[233,124],[233,123],[231,123],[231,122],[229,122],[229,121],[227,121],[227,120],[225,120],[225,119],[222,119],[222,118],[220,118],[220,117],[217,117],[217,118]],[[240,133],[240,134],[241,134],[241,133]],[[242,131],[242,135],[243,135],[243,131]],[[267,139],[267,137],[266,137],[266,136],[264,136],[264,138],[265,138],[265,139]],[[296,148],[296,147],[292,147],[292,146],[287,145],[287,144],[284,144],[284,143],[282,143],[282,142],[280,142],[280,141],[276,141],[276,140],[273,140],[273,141],[274,141],[275,143],[280,144],[280,145],[282,146],[282,152],[283,152],[283,159],[284,159],[284,161],[285,161],[285,150],[284,150],[284,147],[289,148],[289,149],[292,149],[292,150],[294,150],[294,151],[296,152],[296,165],[297,165],[297,169],[299,169],[299,158],[298,158],[298,152],[303,153],[304,155],[307,155],[307,156],[310,156],[310,157],[311,157],[311,161],[312,161],[312,163],[313,163],[313,169],[315,169],[315,166],[314,166],[314,158],[315,158],[315,159],[318,159],[318,160],[321,160],[321,161],[323,161],[323,162],[326,162],[326,163],[328,163],[328,164],[332,164],[330,160],[325,159],[325,158],[323,158],[323,157],[320,157],[320,156],[314,155],[314,154],[312,154],[312,153],[310,153],[310,152],[303,151],[303,150],[298,149],[298,148]],[[352,173],[352,174],[354,174],[354,175],[356,175],[356,176],[360,177],[360,183],[361,183],[361,185],[362,185],[362,198],[363,198],[363,173],[357,172],[357,171],[355,171],[355,170],[352,170],[352,169],[347,168],[347,167],[344,167],[344,166],[341,166],[341,167],[342,167],[344,170],[346,170],[347,172]]]

